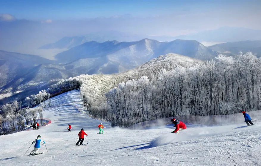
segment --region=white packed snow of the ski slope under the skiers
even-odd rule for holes
[[[240,125],[187,124],[187,130],[172,134],[172,125],[111,128],[110,123],[84,112],[77,90],[51,98],[51,103],[43,111],[51,124],[0,136],[0,165],[261,165],[261,124],[247,127],[243,116]],[[106,127],[104,134],[97,134],[99,123]],[[81,128],[88,134],[84,140],[88,144],[76,146]],[[37,135],[46,141],[49,154],[44,145],[43,154],[29,156],[33,146],[24,154]]]

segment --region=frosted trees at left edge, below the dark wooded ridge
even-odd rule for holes
[[[15,130],[25,130],[31,123],[43,124],[43,108],[51,106],[50,93],[46,90],[41,90],[36,95],[26,97],[24,103],[14,101],[1,106],[0,128],[1,135],[10,133]],[[33,106],[37,106],[32,108]]]

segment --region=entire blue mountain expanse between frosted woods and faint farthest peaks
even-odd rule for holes
[[[57,54],[55,61],[36,55],[0,51],[0,105],[21,100],[60,79],[80,74],[120,73],[168,53],[200,60],[212,59],[219,53],[237,55],[239,51],[252,51],[260,56],[260,43],[241,41],[205,47],[195,40],[180,39],[170,42],[152,39],[102,43],[90,41]]]

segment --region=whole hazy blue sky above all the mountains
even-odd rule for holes
[[[65,36],[105,31],[179,36],[225,26],[261,30],[260,7],[261,0],[0,0],[0,50],[39,55],[39,47]]]

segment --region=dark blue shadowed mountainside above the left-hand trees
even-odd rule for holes
[[[37,55],[0,51],[0,100],[6,103],[37,93],[72,74],[55,61]]]

